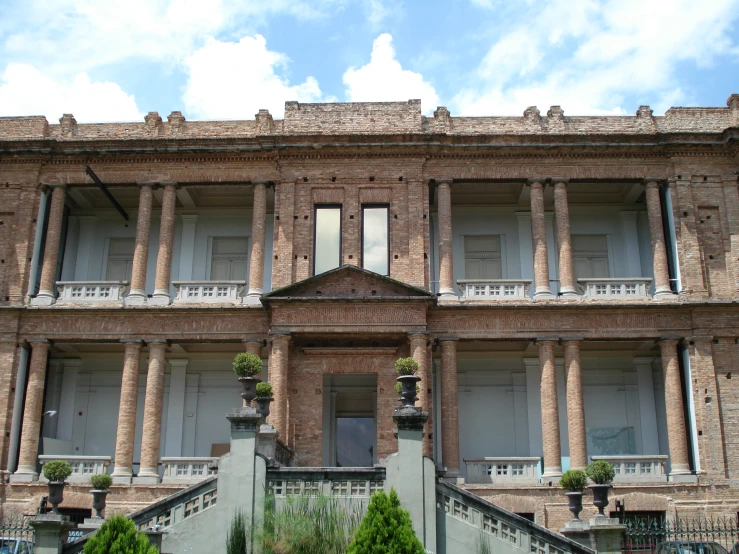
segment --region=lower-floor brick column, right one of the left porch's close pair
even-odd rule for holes
[[[159,445],[162,439],[162,401],[167,342],[149,341],[149,370],[146,373],[144,426],[141,433],[141,468],[134,483],[159,483]]]

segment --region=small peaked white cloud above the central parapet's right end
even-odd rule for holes
[[[383,33],[372,45],[368,64],[344,73],[346,97],[350,102],[391,102],[421,99],[425,113],[431,113],[439,104],[434,87],[423,75],[403,69],[395,58],[393,37]]]

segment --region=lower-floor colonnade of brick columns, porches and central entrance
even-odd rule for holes
[[[686,343],[675,338],[413,333],[362,341],[283,333],[29,348],[16,482],[37,479],[39,459],[50,456],[79,457],[88,472],[107,467],[119,484],[166,480],[175,459],[207,465],[227,451],[223,416],[241,404],[231,362],[245,350],[263,358],[261,378],[274,396],[268,422],[298,466],[374,465],[394,452],[401,356],[419,362],[419,404],[432,416],[424,448],[448,477],[556,482],[606,457],[622,477],[691,479],[699,463],[694,408],[683,402]]]

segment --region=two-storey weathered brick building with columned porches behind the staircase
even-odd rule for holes
[[[245,349],[296,465],[391,454],[413,356],[426,454],[493,502],[557,528],[559,476],[605,457],[627,512],[736,515],[738,173],[739,95],[0,118],[3,507],[50,458],[110,471],[120,511],[202,479]]]

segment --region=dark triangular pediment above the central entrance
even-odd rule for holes
[[[264,300],[299,298],[436,298],[422,288],[408,285],[384,275],[353,265],[344,265],[309,277],[292,285],[273,290],[262,296]]]

